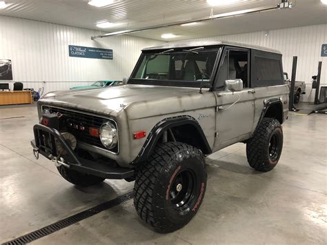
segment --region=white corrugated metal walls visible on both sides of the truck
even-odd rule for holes
[[[297,80],[306,81],[308,98],[311,77],[317,74],[318,61],[323,61],[321,84],[327,84],[326,57],[321,45],[327,43],[327,24],[286,28],[266,32],[207,37],[201,40],[228,40],[275,48],[283,53],[284,71],[290,74],[293,56],[297,55]],[[0,59],[12,59],[14,81],[25,88],[39,88],[47,81],[46,90],[61,90],[99,79],[121,79],[130,75],[141,48],[161,41],[130,36],[108,37],[92,41],[96,30],[73,28],[52,23],[0,16]],[[113,60],[68,57],[68,45],[111,48]],[[314,96],[312,96],[313,99]]]

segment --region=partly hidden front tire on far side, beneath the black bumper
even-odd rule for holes
[[[66,168],[65,166],[57,167],[60,175],[63,179],[66,179],[68,182],[75,184],[76,186],[92,186],[94,184],[98,184],[103,182],[103,178],[97,177],[95,175],[88,175],[86,173],[81,173],[76,170],[72,170],[70,168]]]

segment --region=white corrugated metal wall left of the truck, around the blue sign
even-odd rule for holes
[[[0,59],[12,60],[13,81],[24,88],[65,90],[81,82],[130,75],[141,49],[161,41],[118,36],[92,41],[96,30],[0,16]],[[113,60],[68,56],[68,45],[110,48]],[[11,84],[13,83],[10,82]]]

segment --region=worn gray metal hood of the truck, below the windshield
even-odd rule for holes
[[[179,88],[148,85],[124,85],[93,90],[68,90],[49,92],[39,104],[49,104],[86,110],[101,115],[116,117],[121,110],[131,104],[146,103],[151,100],[181,97],[190,93],[199,93],[199,88]]]

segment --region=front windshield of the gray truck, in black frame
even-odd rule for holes
[[[200,86],[202,81],[210,84],[218,51],[218,48],[195,48],[143,53],[130,80],[159,85],[192,83]]]

